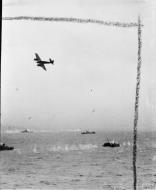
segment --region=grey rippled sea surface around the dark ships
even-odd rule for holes
[[[133,189],[132,132],[3,134],[2,189]],[[102,147],[107,138],[121,144]],[[156,189],[156,133],[138,134],[138,189]]]

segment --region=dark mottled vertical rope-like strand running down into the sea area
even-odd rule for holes
[[[133,178],[134,190],[137,189],[137,123],[138,123],[138,109],[139,109],[139,90],[140,90],[140,77],[141,77],[141,20],[138,17],[138,65],[137,65],[137,81],[136,81],[136,96],[135,96],[135,114],[134,114],[134,131],[133,131]]]

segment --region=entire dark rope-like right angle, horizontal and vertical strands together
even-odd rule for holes
[[[66,17],[30,17],[30,16],[18,16],[18,17],[3,17],[3,20],[28,20],[28,21],[49,21],[49,22],[71,22],[71,23],[83,23],[83,24],[99,24],[114,27],[137,27],[138,28],[138,64],[137,64],[137,82],[136,82],[136,97],[135,97],[135,113],[134,113],[134,128],[133,128],[133,187],[137,189],[137,170],[136,170],[136,158],[137,158],[137,123],[138,123],[138,108],[139,108],[139,90],[140,90],[140,77],[141,77],[141,24],[140,17],[138,17],[138,23],[122,23],[111,22],[96,19],[82,19],[82,18],[66,18]]]

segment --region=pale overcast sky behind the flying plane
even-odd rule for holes
[[[141,15],[142,78],[139,129],[156,124],[152,1],[4,0],[5,16],[91,18],[137,22]],[[65,22],[4,21],[2,29],[3,129],[132,130],[137,27]],[[54,59],[47,71],[34,53]]]

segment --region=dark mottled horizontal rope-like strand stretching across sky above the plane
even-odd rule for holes
[[[82,19],[82,18],[66,18],[66,17],[30,17],[30,16],[17,16],[17,17],[3,17],[3,20],[30,20],[30,21],[49,21],[49,22],[71,22],[71,23],[92,23],[106,26],[117,27],[137,27],[138,23],[122,23],[122,22],[110,22],[96,19]]]

